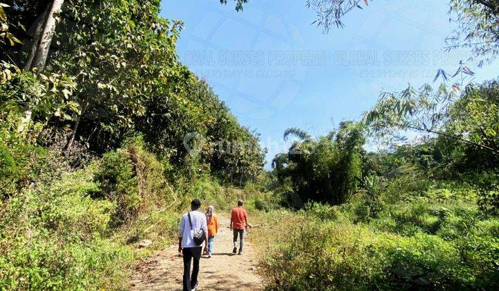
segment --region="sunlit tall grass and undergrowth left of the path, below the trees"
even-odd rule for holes
[[[137,259],[177,238],[193,197],[228,209],[258,194],[210,177],[167,179],[170,170],[134,138],[1,200],[0,290],[126,289]],[[152,245],[138,249],[143,239]]]

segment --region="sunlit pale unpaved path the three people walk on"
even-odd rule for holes
[[[262,290],[251,243],[245,240],[243,255],[232,254],[230,220],[222,215],[218,220],[215,252],[200,261],[198,290]],[[139,265],[132,274],[132,290],[182,290],[183,263],[177,249],[177,245],[167,247]]]

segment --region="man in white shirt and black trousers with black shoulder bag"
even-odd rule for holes
[[[207,252],[208,228],[207,219],[204,213],[198,211],[201,202],[195,199],[191,202],[192,211],[182,216],[179,227],[179,253],[184,257],[184,291],[193,291],[199,286],[198,273],[199,261],[201,258],[201,247],[194,242],[194,233],[200,229],[204,231],[204,252]],[[190,222],[189,222],[190,218]],[[193,272],[191,274],[191,261],[193,263]]]

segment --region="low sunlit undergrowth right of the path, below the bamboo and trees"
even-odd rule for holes
[[[428,188],[404,177],[380,182],[376,217],[353,200],[308,204],[304,221],[282,220],[263,258],[276,290],[493,288],[499,278],[496,218],[484,219],[465,187]],[[444,186],[444,185],[442,185]],[[394,194],[394,191],[401,193]],[[409,191],[409,192],[406,192]],[[394,201],[396,204],[386,203]],[[289,221],[289,222],[288,222]],[[281,234],[279,234],[281,236]],[[272,238],[269,238],[272,240]]]

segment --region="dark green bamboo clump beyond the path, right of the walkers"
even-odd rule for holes
[[[317,140],[297,129],[287,130],[285,136],[288,134],[304,139],[295,141],[287,154],[274,158],[272,166],[281,185],[288,180],[304,202],[341,204],[356,192],[365,141],[360,125],[341,123],[338,133]]]

